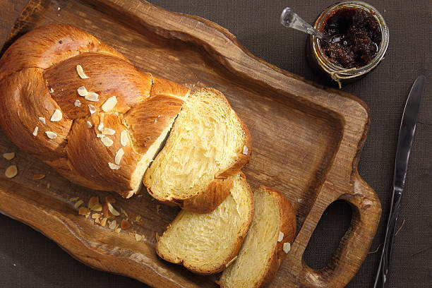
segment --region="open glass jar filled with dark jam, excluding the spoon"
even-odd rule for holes
[[[314,28],[330,35],[331,41],[308,37],[307,59],[340,87],[376,68],[388,48],[388,26],[383,16],[362,1],[345,1],[326,8]]]

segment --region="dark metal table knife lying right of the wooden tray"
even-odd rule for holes
[[[426,78],[423,75],[416,78],[411,91],[409,92],[404,114],[402,115],[399,138],[397,140],[395,176],[393,178],[390,214],[388,217],[387,229],[385,231],[383,252],[381,253],[380,265],[378,266],[378,272],[376,274],[373,288],[384,287],[385,282],[388,280],[388,269],[392,253],[393,237],[395,236],[396,220],[400,210],[400,198],[404,191],[409,152],[411,151],[412,140],[414,138],[414,132],[416,131],[416,121],[417,116],[419,115],[421,95],[423,94],[425,81]],[[381,283],[381,286],[378,286],[379,283]]]

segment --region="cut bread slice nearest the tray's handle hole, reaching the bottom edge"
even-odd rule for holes
[[[238,258],[222,273],[220,287],[255,288],[268,284],[294,240],[296,215],[287,198],[264,186],[254,196],[251,227]]]

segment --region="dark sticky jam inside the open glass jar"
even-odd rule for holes
[[[324,21],[321,31],[332,38],[331,43],[319,42],[325,56],[344,68],[358,68],[371,62],[382,37],[376,18],[360,8],[337,10]]]

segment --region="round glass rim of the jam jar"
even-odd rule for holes
[[[312,43],[313,54],[316,55],[316,58],[318,59],[318,64],[327,73],[329,74],[337,73],[338,78],[345,79],[345,78],[354,78],[357,76],[364,75],[369,71],[371,71],[376,66],[378,66],[380,61],[383,60],[385,52],[387,51],[388,48],[389,32],[388,32],[388,26],[385,23],[385,20],[383,16],[379,13],[379,11],[375,7],[363,1],[344,1],[326,8],[322,13],[320,13],[320,16],[318,16],[318,19],[316,20],[313,27],[319,30],[319,28],[322,27],[323,21],[326,19],[326,16],[333,13],[334,11],[339,10],[342,7],[360,8],[371,13],[371,15],[374,18],[376,18],[380,26],[381,35],[382,35],[378,53],[376,54],[376,56],[373,57],[371,62],[369,62],[365,66],[349,68],[349,69],[333,64],[330,61],[330,59],[328,59],[328,57],[325,56],[323,50],[320,47],[320,44],[318,43],[318,38],[315,36],[311,36],[311,40],[313,42]]]

